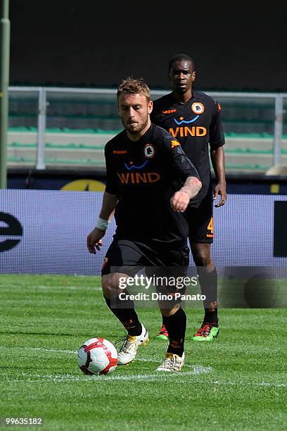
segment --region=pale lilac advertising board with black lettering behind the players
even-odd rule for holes
[[[0,190],[0,273],[100,275],[113,239],[112,223],[103,248],[90,255],[103,192]],[[218,268],[287,267],[287,196],[230,194],[215,208],[212,254]]]

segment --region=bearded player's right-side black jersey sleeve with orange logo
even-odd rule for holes
[[[177,139],[172,136],[169,137],[167,134],[162,142],[162,151],[165,154],[167,163],[170,162],[171,170],[176,179],[186,180],[187,177],[196,177],[200,180],[196,167],[186,156]]]

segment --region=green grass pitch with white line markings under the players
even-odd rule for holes
[[[186,365],[166,374],[155,371],[167,348],[160,312],[139,308],[151,341],[132,365],[90,377],[77,366],[82,342],[124,335],[100,286],[1,275],[1,430],[4,418],[43,418],[46,430],[286,430],[286,309],[222,309],[218,339],[200,344],[203,310],[186,308]]]

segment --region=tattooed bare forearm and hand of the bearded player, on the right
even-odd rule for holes
[[[174,211],[184,213],[189,201],[200,191],[202,184],[197,177],[187,177],[184,186],[178,192],[175,192],[170,199],[170,205]]]

